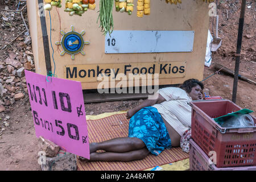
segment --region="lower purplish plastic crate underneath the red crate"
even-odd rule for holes
[[[256,171],[256,166],[217,168],[193,139],[190,139],[189,169],[191,171]]]

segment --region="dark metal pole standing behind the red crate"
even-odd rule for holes
[[[238,75],[239,75],[239,65],[240,65],[242,36],[243,36],[243,20],[245,19],[245,5],[246,5],[246,0],[242,0],[239,26],[238,26],[236,65],[234,70],[234,84],[233,84],[233,93],[232,93],[232,102],[234,103],[236,103],[236,99],[237,99],[237,82],[238,82]]]

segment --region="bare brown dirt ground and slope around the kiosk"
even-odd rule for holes
[[[10,10],[16,10],[18,1],[11,3]],[[247,1],[245,24],[243,31],[242,42],[242,56],[240,63],[240,74],[246,76],[250,80],[256,81],[256,60],[255,60],[255,1]],[[204,67],[204,78],[212,75],[215,70],[214,63],[225,65],[227,68],[234,70],[235,57],[232,56],[236,52],[237,45],[237,30],[238,19],[240,17],[241,2],[236,0],[218,1],[218,15],[219,18],[219,34],[222,38],[222,46],[217,52],[212,52],[212,65]],[[5,5],[1,5],[0,9],[5,9]],[[9,13],[9,14],[8,14]],[[26,89],[26,80],[23,77],[13,74],[13,70],[7,68],[5,60],[10,57],[11,53],[31,51],[31,43],[28,42],[25,49],[20,49],[21,43],[26,40],[26,35],[22,34],[18,39],[2,50],[2,48],[10,43],[20,32],[26,30],[20,18],[20,14],[11,15],[11,22],[3,20],[10,15],[10,12],[0,11],[0,83],[7,88],[7,96],[1,97],[0,105],[5,107],[5,111],[0,111],[0,170],[40,170],[37,162],[38,155],[38,139],[35,137],[34,122],[32,120],[32,113],[30,109],[30,102]],[[24,18],[27,23],[26,11],[23,11]],[[212,24],[210,19],[210,25]],[[28,23],[27,23],[28,24]],[[210,26],[210,30],[212,30]],[[26,52],[24,56],[21,53],[21,59],[27,59],[30,55]],[[32,55],[30,55],[32,57]],[[18,60],[18,59],[16,59]],[[232,63],[228,64],[231,60]],[[21,61],[22,62],[22,61]],[[27,61],[23,61],[22,65],[25,66]],[[226,65],[228,64],[228,65]],[[34,71],[33,65],[30,68]],[[13,82],[6,84],[8,76],[15,76]],[[5,77],[6,76],[6,77]],[[7,78],[8,77],[8,78]],[[11,85],[14,85],[14,90]],[[218,74],[214,75],[204,81],[205,88],[209,89],[211,96],[221,96],[222,98],[232,100],[233,77]],[[247,108],[256,111],[256,85],[249,82],[239,80],[237,90],[236,104],[242,108]],[[13,91],[12,91],[13,90]],[[14,101],[15,94],[23,93],[24,97],[20,100]],[[101,114],[105,112],[128,110],[139,104],[139,100],[130,101],[114,101],[114,102],[101,102],[94,104],[85,104],[87,114]],[[253,114],[256,116],[256,114]],[[7,123],[7,124],[6,124]]]

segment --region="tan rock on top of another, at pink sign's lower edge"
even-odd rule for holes
[[[44,137],[39,137],[38,142],[40,150],[46,152],[46,156],[57,156],[60,146],[57,146],[55,143],[45,139]]]

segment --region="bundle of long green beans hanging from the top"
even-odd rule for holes
[[[100,19],[100,27],[101,31],[104,32],[104,35],[109,35],[114,30],[114,22],[113,22],[113,10],[114,0],[100,0],[100,14],[98,15],[98,19]],[[97,19],[97,23],[98,23]]]

